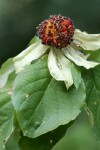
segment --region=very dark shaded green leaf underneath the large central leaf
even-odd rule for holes
[[[35,139],[22,136],[20,139],[21,150],[51,150],[53,146],[65,135],[66,130],[72,124],[60,126],[52,132],[48,132]]]

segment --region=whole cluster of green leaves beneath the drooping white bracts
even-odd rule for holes
[[[91,57],[99,61],[98,53]],[[51,150],[83,106],[100,139],[100,65],[81,71],[84,80],[79,83],[79,75],[74,76],[78,86],[67,90],[64,82],[51,77],[47,54],[18,75],[13,59],[4,63],[0,71],[0,150],[7,149],[9,140],[16,150]]]

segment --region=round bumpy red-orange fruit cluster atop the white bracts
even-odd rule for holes
[[[44,45],[61,49],[69,45],[73,40],[73,22],[61,15],[50,16],[49,19],[39,24],[37,30],[37,34]]]

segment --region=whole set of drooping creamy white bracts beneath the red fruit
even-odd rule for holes
[[[23,70],[26,65],[40,58],[49,50],[48,68],[50,74],[54,79],[64,81],[68,89],[74,82],[71,68],[72,62],[86,69],[93,68],[99,64],[87,60],[89,54],[85,55],[80,49],[91,51],[100,49],[100,34],[88,34],[76,29],[72,43],[62,49],[45,46],[41,43],[41,40],[38,39],[22,53],[14,57],[13,61],[16,73]]]

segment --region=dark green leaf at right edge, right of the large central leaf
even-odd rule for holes
[[[90,111],[90,119],[93,131],[100,140],[100,65],[88,71],[84,75],[86,84],[87,106]]]

